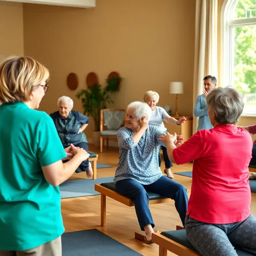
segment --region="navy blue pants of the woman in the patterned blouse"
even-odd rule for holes
[[[149,209],[149,196],[147,191],[175,200],[176,210],[184,225],[188,209],[188,194],[182,184],[166,176],[162,176],[159,180],[150,185],[142,185],[137,181],[133,181],[131,178],[126,178],[116,183],[116,190],[121,195],[127,196],[134,201],[139,226],[142,231],[144,231],[144,227],[149,224],[155,227]]]

